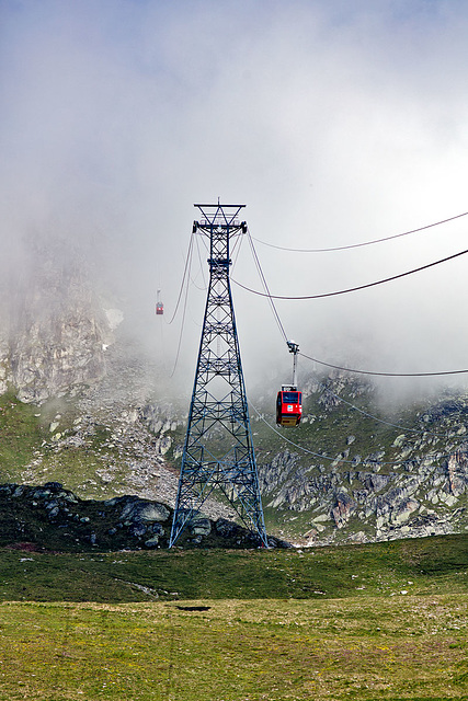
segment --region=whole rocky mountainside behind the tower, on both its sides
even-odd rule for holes
[[[48,260],[2,310],[2,481],[60,482],[78,498],[134,494],[171,508],[187,402],[80,267],[58,273]],[[273,390],[251,397],[270,532],[327,544],[466,531],[466,393],[390,411],[373,384],[349,375],[310,374],[301,386],[296,429],[275,426]],[[235,517],[214,499],[205,510]]]

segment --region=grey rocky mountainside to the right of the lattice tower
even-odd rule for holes
[[[312,380],[306,394],[313,413],[297,445],[260,466],[266,509],[286,532],[298,521],[307,542],[324,544],[468,529],[467,397],[389,418],[372,386],[341,375]]]

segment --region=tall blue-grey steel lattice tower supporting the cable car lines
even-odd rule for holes
[[[244,205],[195,207],[193,232],[209,238],[209,286],[169,547],[214,490],[267,547],[229,281],[231,240],[247,232],[238,218]]]

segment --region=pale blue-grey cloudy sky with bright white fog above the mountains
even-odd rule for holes
[[[468,210],[466,2],[2,0],[0,27],[3,245],[33,231],[99,253],[148,308],[149,342],[156,289],[175,303],[195,202],[246,203],[252,235],[293,248]],[[258,250],[273,292],[315,294],[450,255],[467,227],[346,254]],[[236,275],[259,287],[247,249]],[[324,360],[465,367],[465,266],[279,312]],[[247,367],[281,361],[266,304],[236,298]],[[195,289],[190,308],[189,366]]]

